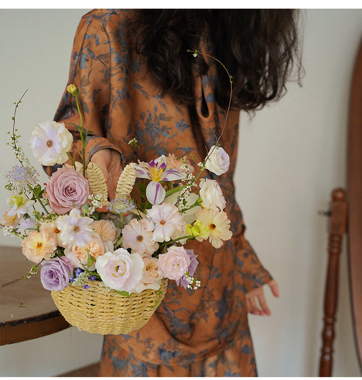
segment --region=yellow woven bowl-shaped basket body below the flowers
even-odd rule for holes
[[[56,307],[70,325],[95,334],[128,334],[144,326],[163,300],[167,279],[163,278],[160,292],[146,289],[124,297],[88,282],[90,288],[69,286],[52,291]]]

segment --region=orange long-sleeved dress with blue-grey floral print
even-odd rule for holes
[[[82,17],[75,35],[67,84],[79,88],[83,126],[91,131],[86,160],[99,149],[113,148],[125,164],[174,153],[189,155],[197,168],[225,122],[226,112],[214,98],[218,63],[205,57],[210,69],[203,76],[194,65],[196,112],[190,113],[187,106],[162,97],[147,75],[144,58],[136,54],[127,33],[127,18],[133,16],[131,10],[94,10]],[[212,54],[207,36],[203,41],[198,49]],[[66,90],[55,120],[79,122],[74,97]],[[186,248],[198,255],[201,287],[186,290],[169,281],[148,324],[127,335],[105,336],[101,376],[256,375],[244,295],[272,277],[244,237],[235,201],[238,122],[239,111],[231,111],[220,141],[230,155],[229,171],[218,177],[205,173],[222,186],[232,239],[220,249],[208,241],[188,243]],[[133,138],[138,150],[128,144]],[[73,157],[79,161],[80,149],[76,141]]]

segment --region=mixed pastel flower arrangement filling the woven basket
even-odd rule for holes
[[[72,84],[67,90],[75,97],[80,116],[76,130],[83,162],[71,157],[73,137],[63,123],[39,123],[29,140],[32,152],[40,164],[58,165],[44,186],[39,183],[15,128],[24,95],[16,103],[9,132],[8,144],[20,165],[5,175],[12,195],[0,227],[5,235],[22,240],[22,253],[34,263],[26,277],[40,266],[40,281],[52,295],[77,288],[82,298],[95,285],[102,294],[113,292],[121,299],[150,290],[155,295],[154,310],[164,296],[165,279],[196,290],[199,262],[186,243],[208,239],[219,248],[232,236],[219,183],[201,179],[197,185],[197,179],[205,168],[225,173],[229,156],[215,144],[198,164],[196,175],[186,156],[169,154],[130,163],[118,180],[115,199],[109,201],[102,171],[93,162],[85,165],[88,131],[82,127],[79,90]],[[137,145],[136,139],[129,143]],[[137,201],[132,193],[136,186]]]

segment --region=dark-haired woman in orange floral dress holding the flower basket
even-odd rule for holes
[[[216,250],[208,242],[188,245],[198,254],[201,288],[170,281],[146,326],[105,336],[101,376],[257,374],[247,312],[269,314],[262,286],[278,296],[278,284],[245,239],[235,202],[239,112],[281,97],[298,62],[296,28],[290,10],[94,10],[81,19],[68,83],[80,90],[83,126],[90,131],[86,160],[102,168],[110,199],[128,162],[174,153],[197,167],[221,134],[230,98],[230,79],[210,56],[233,76],[220,140],[230,168],[217,177],[233,237]],[[189,49],[205,54],[194,57]],[[55,120],[78,124],[66,91]],[[138,150],[128,144],[133,138]],[[80,148],[78,139],[73,157],[79,161]]]

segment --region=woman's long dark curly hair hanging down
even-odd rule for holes
[[[293,67],[298,79],[301,57],[298,46],[298,10],[137,10],[130,21],[136,51],[147,59],[147,69],[161,88],[176,102],[192,106],[195,62],[188,49],[195,50],[206,30],[210,31],[213,56],[233,76],[232,107],[256,110],[278,100]],[[196,62],[200,73],[208,65],[202,55]],[[218,104],[226,109],[230,82],[217,65],[215,89]]]

